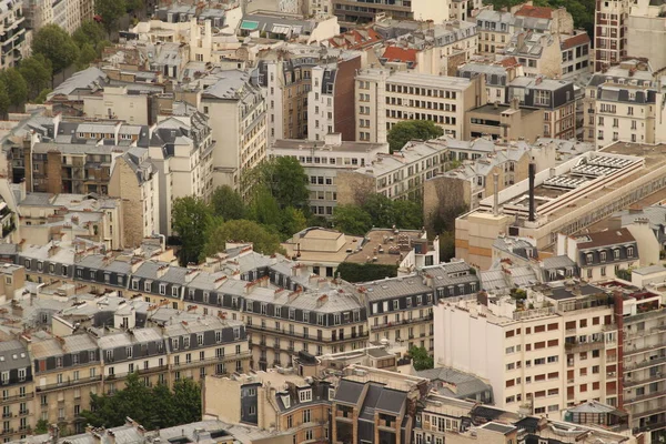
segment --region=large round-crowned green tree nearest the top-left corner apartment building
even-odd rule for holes
[[[77,61],[79,47],[58,24],[47,24],[34,34],[32,53],[42,54],[51,62],[53,72],[60,72]]]

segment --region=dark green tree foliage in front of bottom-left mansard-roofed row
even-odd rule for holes
[[[128,416],[147,430],[172,427],[201,421],[201,387],[184,379],[176,381],[173,390],[163,384],[151,389],[133,373],[125,380],[123,390],[112,395],[91,394],[90,406],[81,416],[95,427],[117,427],[124,424]]]

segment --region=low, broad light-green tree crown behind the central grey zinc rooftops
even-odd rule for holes
[[[263,254],[284,253],[280,236],[256,222],[239,219],[214,225],[206,233],[202,256],[210,256],[225,250],[228,241],[252,242],[254,251]]]

